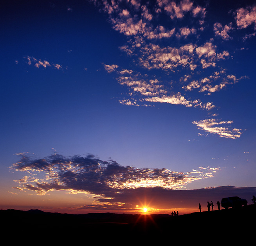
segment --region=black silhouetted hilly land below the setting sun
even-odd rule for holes
[[[240,209],[168,214],[59,214],[41,210],[0,210],[2,240],[38,245],[45,242],[88,244],[112,242],[254,242],[256,205]],[[82,240],[82,241],[81,241]],[[167,241],[166,241],[167,240]],[[91,244],[91,243],[89,243]],[[201,243],[199,243],[201,244]]]

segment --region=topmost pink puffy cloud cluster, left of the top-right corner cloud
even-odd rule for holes
[[[142,39],[162,39],[173,36],[175,28],[167,30],[161,24],[155,25],[156,13],[167,15],[171,20],[183,18],[186,12],[191,11],[193,18],[203,19],[206,14],[205,8],[199,5],[194,6],[194,2],[190,0],[182,0],[178,4],[174,1],[157,0],[152,2],[153,8],[141,4],[139,1],[121,3],[118,1],[91,0],[91,2],[108,14],[108,20],[113,29],[126,36],[141,36]],[[195,29],[190,29],[190,32],[195,32]]]

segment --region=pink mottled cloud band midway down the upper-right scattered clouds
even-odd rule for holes
[[[228,51],[218,53],[216,45],[206,42],[197,46],[192,43],[178,48],[166,46],[161,47],[153,43],[137,46],[123,46],[129,55],[139,54],[139,64],[148,70],[157,69],[164,71],[176,71],[179,68],[195,70],[201,66],[203,69],[216,66],[216,62],[229,57]]]

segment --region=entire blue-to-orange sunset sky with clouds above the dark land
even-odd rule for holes
[[[10,0],[0,12],[0,209],[251,204],[254,1]]]

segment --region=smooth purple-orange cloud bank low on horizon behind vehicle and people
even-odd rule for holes
[[[174,190],[163,189],[162,187],[139,188],[128,190],[127,193],[118,193],[114,198],[99,198],[93,206],[101,207],[107,203],[112,205],[121,205],[121,209],[135,209],[135,205],[143,206],[144,203],[149,207],[165,209],[171,211],[174,208],[198,209],[198,203],[201,203],[202,210],[207,210],[207,201],[221,201],[222,198],[229,196],[239,196],[247,199],[248,204],[252,194],[256,193],[256,187],[235,187],[231,185],[219,187],[206,187],[195,190]],[[146,201],[146,202],[145,202]],[[216,206],[216,205],[215,205]],[[87,208],[87,206],[85,206]]]

